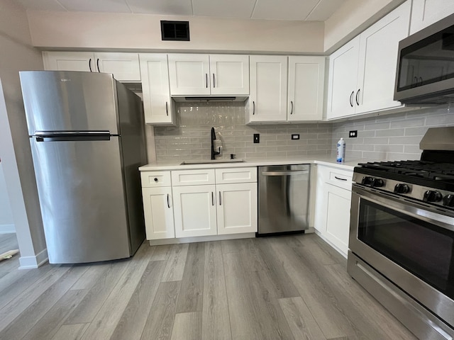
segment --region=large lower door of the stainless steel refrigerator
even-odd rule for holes
[[[50,263],[131,256],[118,138],[31,138]]]

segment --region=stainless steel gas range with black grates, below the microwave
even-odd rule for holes
[[[419,339],[453,339],[454,127],[420,147],[355,167],[348,273]]]

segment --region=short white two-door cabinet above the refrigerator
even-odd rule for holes
[[[43,52],[43,61],[46,70],[105,72],[118,81],[140,81],[137,53]]]

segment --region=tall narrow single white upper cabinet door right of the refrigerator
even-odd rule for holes
[[[167,55],[140,54],[143,111],[146,124],[174,124],[174,107],[170,98]]]

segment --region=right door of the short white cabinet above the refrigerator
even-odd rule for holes
[[[98,72],[112,73],[118,81],[140,81],[139,55],[137,53],[98,53]]]

